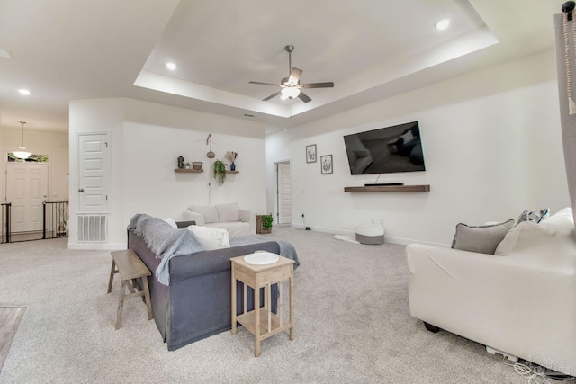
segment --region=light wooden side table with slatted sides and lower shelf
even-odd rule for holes
[[[232,262],[232,335],[236,335],[236,323],[244,326],[255,339],[254,355],[260,356],[260,341],[290,329],[290,340],[294,339],[294,274],[291,259],[280,256],[276,263],[253,265],[244,262],[244,256],[233,257]],[[244,283],[244,311],[236,315],[236,281]],[[284,322],[283,282],[289,286],[289,321]],[[278,314],[272,312],[270,305],[270,286],[278,283]],[[255,309],[247,311],[247,286],[254,289]],[[259,308],[260,289],[264,290],[264,307]],[[263,321],[264,320],[264,321]]]

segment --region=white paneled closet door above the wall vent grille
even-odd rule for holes
[[[78,210],[108,209],[108,134],[78,136]]]

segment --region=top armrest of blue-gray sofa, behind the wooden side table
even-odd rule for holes
[[[253,254],[256,251],[268,251],[280,254],[280,246],[275,241],[232,246],[230,248],[214,249],[198,252],[193,255],[182,255],[170,259],[170,284],[196,276],[227,271],[232,268],[230,258]]]

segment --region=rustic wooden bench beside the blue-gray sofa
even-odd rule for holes
[[[152,306],[150,304],[150,291],[148,290],[148,276],[151,274],[148,267],[142,263],[138,255],[131,249],[112,252],[112,269],[110,270],[110,281],[108,281],[108,293],[112,291],[112,280],[115,273],[120,273],[122,288],[120,299],[118,299],[118,313],[116,314],[116,329],[122,325],[122,309],[124,299],[144,296],[146,307],[148,308],[148,320],[152,317]],[[137,281],[141,279],[142,290],[137,290]],[[126,289],[130,293],[126,293]]]

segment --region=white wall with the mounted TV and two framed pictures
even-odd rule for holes
[[[522,210],[570,206],[554,50],[458,76],[266,138],[268,190],[274,163],[290,159],[293,226],[353,234],[383,220],[386,240],[449,244],[455,225],[517,219]],[[426,172],[382,174],[379,183],[430,184],[430,192],[346,193],[377,175],[350,175],[343,136],[419,121]],[[304,148],[332,154],[334,174],[307,164]],[[268,195],[274,210],[274,193]]]

